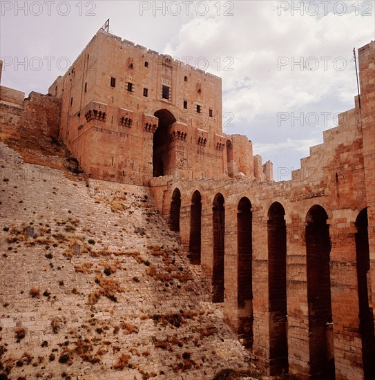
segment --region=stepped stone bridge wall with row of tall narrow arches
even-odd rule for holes
[[[271,374],[288,366],[303,378],[374,373],[374,50],[374,42],[359,50],[360,106],[356,99],[339,115],[292,180],[166,178],[151,188],[166,220],[180,191],[180,238],[188,250],[199,191],[202,228],[194,234],[213,301],[224,299],[225,320]]]

